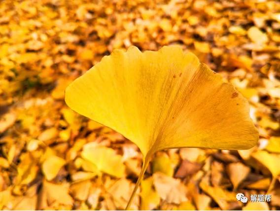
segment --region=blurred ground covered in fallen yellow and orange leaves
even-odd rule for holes
[[[279,11],[278,0],[1,1],[0,209],[124,209],[139,149],[70,110],[64,90],[114,48],[175,44],[248,99],[260,140],[157,153],[131,209],[279,210]]]

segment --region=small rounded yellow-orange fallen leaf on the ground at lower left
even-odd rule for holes
[[[65,165],[65,160],[55,155],[48,157],[42,164],[42,171],[47,180],[52,180],[57,176],[61,167]]]

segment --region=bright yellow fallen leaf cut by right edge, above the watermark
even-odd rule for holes
[[[271,174],[276,177],[280,174],[280,155],[271,154],[267,151],[258,150],[252,154],[252,157],[263,164]]]

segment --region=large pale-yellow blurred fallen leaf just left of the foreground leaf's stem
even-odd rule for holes
[[[124,176],[125,166],[122,157],[111,148],[85,145],[81,156],[93,163],[99,171],[116,177]]]

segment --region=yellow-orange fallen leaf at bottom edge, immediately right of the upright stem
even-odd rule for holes
[[[141,210],[154,210],[160,203],[158,193],[153,189],[153,177],[141,181]]]

